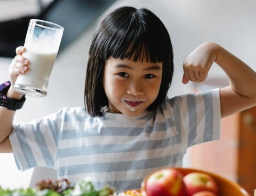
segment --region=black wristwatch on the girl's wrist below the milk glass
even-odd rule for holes
[[[7,98],[6,92],[9,90],[10,86],[10,81],[6,81],[0,85],[0,106],[15,111],[22,108],[26,98],[25,95],[21,99]]]

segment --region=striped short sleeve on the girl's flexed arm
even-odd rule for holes
[[[167,100],[168,112],[185,149],[220,139],[220,90],[191,93]]]

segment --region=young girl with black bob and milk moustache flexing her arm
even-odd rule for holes
[[[17,48],[11,86],[0,89],[6,103],[24,102],[12,85],[30,69],[25,50]],[[183,83],[204,81],[214,62],[230,86],[167,98],[173,77],[167,29],[147,9],[121,7],[103,19],[93,37],[85,108],[12,125],[12,110],[22,104],[2,105],[0,152],[13,152],[20,170],[52,167],[59,179],[87,178],[96,188],[108,184],[117,192],[139,189],[150,172],[182,167],[190,146],[219,139],[221,117],[256,105],[256,73],[215,43],[203,43],[185,59]]]

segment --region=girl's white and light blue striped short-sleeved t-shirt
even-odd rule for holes
[[[89,179],[96,188],[138,189],[162,167],[182,167],[188,147],[220,138],[219,89],[166,98],[137,117],[64,108],[10,134],[20,170],[51,167],[58,179]]]

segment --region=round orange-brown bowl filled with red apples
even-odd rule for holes
[[[220,175],[191,168],[168,167],[149,173],[142,196],[250,196],[241,186]]]

